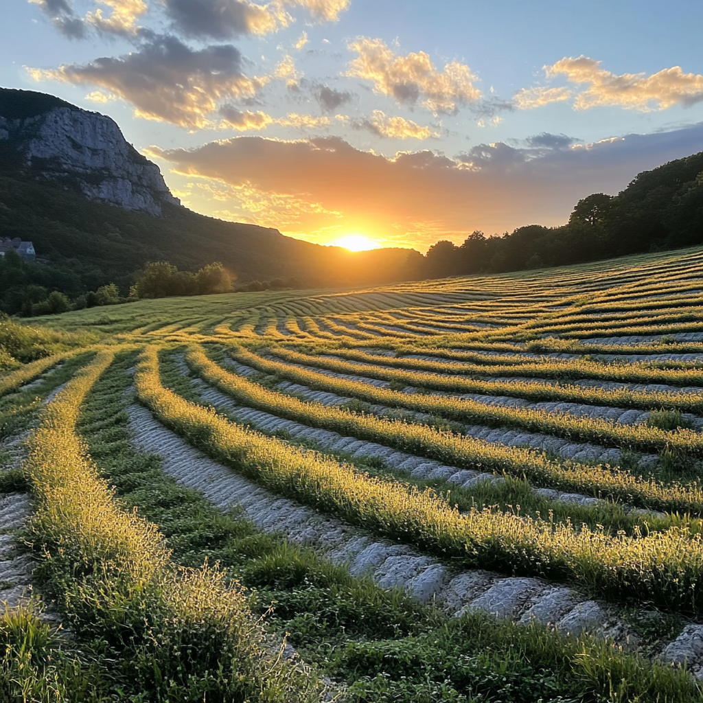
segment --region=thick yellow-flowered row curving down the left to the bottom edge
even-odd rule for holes
[[[45,409],[30,441],[30,539],[43,557],[41,581],[77,636],[101,638],[115,675],[147,696],[134,700],[306,699],[269,696],[298,677],[262,646],[241,588],[207,564],[175,565],[157,527],[122,510],[86,456],[75,434],[79,408],[113,358],[98,353]]]

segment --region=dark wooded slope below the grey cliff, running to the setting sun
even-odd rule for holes
[[[32,269],[31,283],[69,297],[108,283],[126,294],[134,272],[159,261],[185,271],[219,261],[243,284],[291,277],[298,288],[382,283],[400,280],[409,251],[322,247],[175,205],[154,217],[30,179],[1,159],[0,234],[34,242],[42,271]],[[4,289],[0,284],[0,292]]]

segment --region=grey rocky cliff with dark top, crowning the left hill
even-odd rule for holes
[[[180,205],[110,117],[43,93],[0,89],[0,161],[124,209],[159,215],[164,203]]]

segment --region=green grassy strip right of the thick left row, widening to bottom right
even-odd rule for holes
[[[217,560],[256,591],[259,610],[275,601],[273,624],[290,633],[304,659],[346,683],[350,700],[517,703],[537,694],[595,701],[610,690],[617,691],[612,700],[699,696],[675,670],[652,668],[586,635],[565,640],[539,626],[516,628],[481,614],[451,621],[398,591],[352,578],[282,536],[222,515],[195,491],[176,486],[158,458],[131,449],[122,400],[130,363],[122,360],[98,383],[79,424],[121,501],[159,524],[179,561]]]

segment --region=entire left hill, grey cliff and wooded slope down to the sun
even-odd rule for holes
[[[354,254],[192,212],[109,117],[8,89],[0,89],[0,236],[32,240],[57,271],[34,283],[69,295],[110,281],[124,290],[135,269],[159,260],[187,270],[220,261],[244,282],[398,280],[412,252]]]

